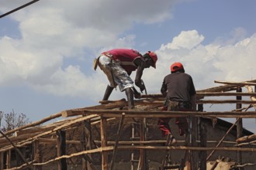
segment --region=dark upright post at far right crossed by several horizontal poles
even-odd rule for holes
[[[242,88],[237,88],[237,92],[242,92]],[[237,100],[242,100],[241,96],[237,96]],[[237,104],[236,109],[242,108],[242,104]],[[239,119],[239,120],[238,120]],[[237,138],[242,137],[243,135],[243,119],[237,118]],[[239,165],[242,163],[242,153],[237,151],[237,162]]]

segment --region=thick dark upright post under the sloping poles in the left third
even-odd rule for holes
[[[66,155],[66,133],[65,131],[57,131],[57,156]],[[61,158],[58,162],[58,170],[67,170],[66,158]]]

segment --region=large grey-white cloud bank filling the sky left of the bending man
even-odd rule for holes
[[[8,12],[26,2],[3,0],[0,12]],[[175,3],[44,0],[29,5],[9,15],[18,22],[20,38],[0,37],[0,83],[4,86],[26,83],[54,95],[92,97],[92,90],[85,89],[102,90],[104,78],[100,77],[104,75],[92,72],[87,76],[89,74],[83,73],[78,65],[64,66],[66,59],[81,59],[85,53],[97,56],[100,51],[116,46],[132,47],[136,37],[119,37],[119,34],[130,29],[134,22],[150,24],[170,19],[170,8]],[[88,58],[86,60],[92,60]]]

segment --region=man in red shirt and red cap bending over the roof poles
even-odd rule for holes
[[[157,55],[148,51],[143,56],[134,49],[111,49],[102,53],[97,59],[100,69],[106,74],[109,85],[102,100],[108,100],[112,90],[118,85],[121,92],[126,92],[128,109],[134,108],[133,80],[130,74],[137,70],[135,84],[140,91],[145,90],[141,76],[145,68],[156,68]]]

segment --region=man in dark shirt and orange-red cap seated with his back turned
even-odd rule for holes
[[[163,110],[189,111],[195,110],[195,87],[192,77],[185,73],[182,63],[171,64],[171,73],[164,77],[161,93],[166,97]],[[163,136],[168,137],[168,145],[174,145],[176,140],[171,135],[169,121],[171,118],[159,118],[158,128]],[[177,117],[175,124],[178,125],[179,134],[182,136],[189,131],[186,117]]]

